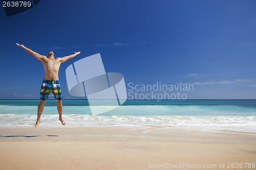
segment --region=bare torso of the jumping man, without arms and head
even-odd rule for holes
[[[45,77],[46,80],[59,80],[58,72],[60,66],[60,58],[47,58],[44,56],[42,60],[42,65],[45,68]]]

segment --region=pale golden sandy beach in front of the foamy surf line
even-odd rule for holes
[[[1,169],[253,169],[231,165],[256,163],[252,133],[165,126],[2,126],[0,133]]]

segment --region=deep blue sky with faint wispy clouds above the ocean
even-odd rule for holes
[[[16,42],[55,57],[80,51],[65,70],[100,53],[126,85],[193,84],[188,99],[256,99],[256,1],[41,1],[0,9],[0,99],[39,99],[44,68]],[[51,99],[54,99],[51,96]],[[79,98],[80,99],[80,98]]]

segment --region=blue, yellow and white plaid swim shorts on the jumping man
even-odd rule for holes
[[[46,101],[48,95],[52,92],[56,101],[61,101],[63,99],[61,95],[61,89],[59,80],[43,80],[41,91],[40,91],[40,101]]]

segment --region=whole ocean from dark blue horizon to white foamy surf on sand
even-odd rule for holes
[[[34,125],[38,103],[38,100],[0,100],[0,126]],[[256,100],[127,100],[99,115],[91,114],[86,100],[63,100],[62,104],[67,126],[158,126],[256,133]],[[55,100],[46,102],[40,126],[62,126]]]

